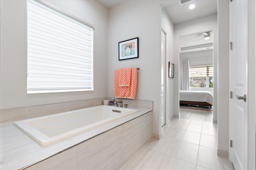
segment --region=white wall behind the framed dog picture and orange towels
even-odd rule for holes
[[[161,8],[159,1],[129,0],[109,9],[108,96],[114,96],[114,70],[140,67],[138,100],[153,101],[153,133],[161,133]],[[139,37],[139,58],[118,61],[118,42]]]

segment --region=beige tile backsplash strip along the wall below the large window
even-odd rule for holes
[[[72,111],[76,109],[83,109],[87,107],[100,106],[103,104],[103,100],[107,98],[80,100],[75,102],[64,102],[57,104],[46,104],[39,106],[20,107],[14,109],[2,109],[0,110],[0,124],[8,123],[12,121],[19,121],[24,119],[30,119],[34,117],[46,116],[56,113],[62,113],[66,111]]]

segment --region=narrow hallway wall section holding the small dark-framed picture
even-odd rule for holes
[[[162,8],[161,18],[162,29],[166,33],[166,94],[168,97],[166,98],[166,120],[170,121],[174,115],[174,79],[168,78],[168,62],[174,62],[174,25],[164,8]]]

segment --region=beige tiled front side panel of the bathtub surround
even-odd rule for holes
[[[152,116],[153,113],[151,111],[150,113],[142,115],[141,117],[124,123],[123,125],[106,133],[85,141],[76,147],[72,147],[71,149],[64,151],[70,152],[71,156],[61,152],[60,154],[39,162],[38,164],[46,165],[46,169],[69,169],[67,167],[63,168],[63,164],[66,164],[67,158],[69,158],[68,162],[71,162],[71,165],[69,166],[72,166],[73,168],[71,169],[74,170],[119,170],[121,165],[128,162],[128,160],[130,160],[148,141],[152,139]],[[138,123],[139,125],[134,127],[134,125],[137,125]],[[132,136],[131,140],[127,141],[123,139],[127,135]],[[65,156],[63,156],[63,154]],[[55,162],[52,160],[55,160]],[[74,162],[76,163],[75,166],[73,166]],[[28,169],[36,170],[40,167],[38,164],[35,164]]]

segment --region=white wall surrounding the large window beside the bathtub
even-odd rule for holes
[[[26,94],[26,0],[1,0],[0,109],[107,97],[108,10],[94,0],[47,0],[94,25],[94,91]]]

